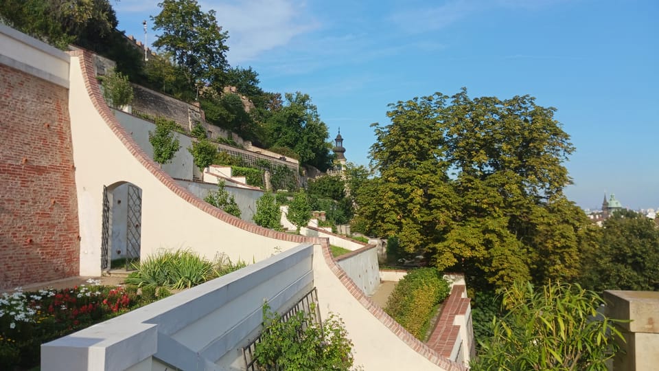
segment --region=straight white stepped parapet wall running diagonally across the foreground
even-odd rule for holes
[[[313,287],[313,253],[299,245],[43,344],[41,369],[244,369],[240,349],[259,330],[264,300],[287,308],[301,299]]]

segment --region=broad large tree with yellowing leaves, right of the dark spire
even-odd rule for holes
[[[577,276],[587,219],[562,192],[574,148],[555,109],[465,89],[390,108],[391,123],[373,125],[380,176],[356,191],[364,232],[397,236],[476,285]]]

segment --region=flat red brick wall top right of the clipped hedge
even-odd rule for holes
[[[437,324],[435,324],[430,339],[426,343],[443,357],[451,356],[453,346],[460,332],[460,326],[454,324],[455,316],[467,313],[470,298],[462,297],[466,291],[467,287],[463,284],[453,285],[451,295],[444,301],[441,315],[439,315]]]

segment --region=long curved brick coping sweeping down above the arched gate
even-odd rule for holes
[[[128,132],[126,129],[124,129],[124,126],[119,124],[115,116],[112,114],[110,107],[108,104],[106,104],[103,98],[100,87],[96,80],[93,67],[93,55],[91,52],[80,49],[71,51],[69,54],[71,56],[80,57],[80,68],[82,69],[84,86],[86,87],[92,104],[95,106],[96,111],[103,118],[104,122],[108,125],[111,131],[117,135],[117,138],[119,138],[119,140],[124,144],[124,146],[126,146],[128,151],[130,151],[130,153],[140,162],[140,164],[142,164],[142,166],[150,171],[154,177],[163,183],[163,185],[174,192],[174,194],[178,195],[181,197],[181,199],[184,199],[187,201],[187,203],[193,205],[194,207],[197,207],[199,210],[202,210],[203,212],[206,212],[207,214],[220,219],[220,221],[223,221],[224,223],[228,223],[234,227],[243,229],[246,232],[289,242],[320,243],[322,240],[321,238],[300,236],[297,234],[287,234],[285,232],[278,232],[273,229],[267,229],[253,223],[243,221],[240,218],[236,218],[233,215],[227,214],[217,207],[214,207],[213,205],[198,199],[194,194],[192,194],[192,192],[183,188],[183,186],[179,186],[178,183],[176,183],[176,181],[170,177],[170,175],[164,172],[159,166],[156,165],[152,159],[150,159],[150,157],[148,157],[148,155],[146,155],[146,153],[144,153],[144,151],[135,142],[135,139],[132,139],[132,137],[128,135]]]

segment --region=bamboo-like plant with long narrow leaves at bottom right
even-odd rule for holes
[[[614,324],[597,308],[597,293],[579,285],[513,284],[503,293],[508,313],[494,317],[492,337],[481,341],[472,370],[607,370],[624,341]]]

